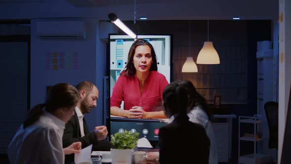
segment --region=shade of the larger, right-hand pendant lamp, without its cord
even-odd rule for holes
[[[212,41],[205,41],[197,57],[197,64],[220,64],[219,56]]]

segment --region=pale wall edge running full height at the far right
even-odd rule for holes
[[[279,1],[279,136],[278,162],[280,164],[291,84],[291,0]]]

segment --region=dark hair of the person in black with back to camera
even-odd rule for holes
[[[165,114],[167,117],[178,114],[177,117],[187,116],[187,91],[178,82],[171,82],[163,91]]]

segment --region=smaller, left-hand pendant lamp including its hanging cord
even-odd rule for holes
[[[190,72],[198,72],[197,65],[195,64],[193,57],[190,57],[191,55],[191,23],[189,20],[189,57],[187,57],[183,67],[182,72],[184,73],[190,73]]]

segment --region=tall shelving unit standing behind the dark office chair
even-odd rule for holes
[[[257,115],[260,124],[257,131],[262,134],[261,142],[257,145],[257,151],[260,154],[270,154],[268,148],[269,129],[267,118],[264,111],[264,104],[273,101],[274,96],[274,58],[271,41],[257,42]]]

